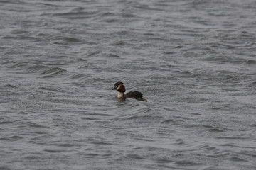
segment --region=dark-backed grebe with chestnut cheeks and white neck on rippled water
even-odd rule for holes
[[[124,94],[125,92],[125,87],[123,85],[124,83],[122,82],[117,82],[114,84],[114,88],[113,90],[117,90],[118,91],[118,94],[117,94],[117,98],[120,98],[120,99],[125,99],[125,98],[135,98],[139,101],[146,101],[145,98],[142,98],[143,95],[141,92],[139,91],[130,91],[126,94]]]

